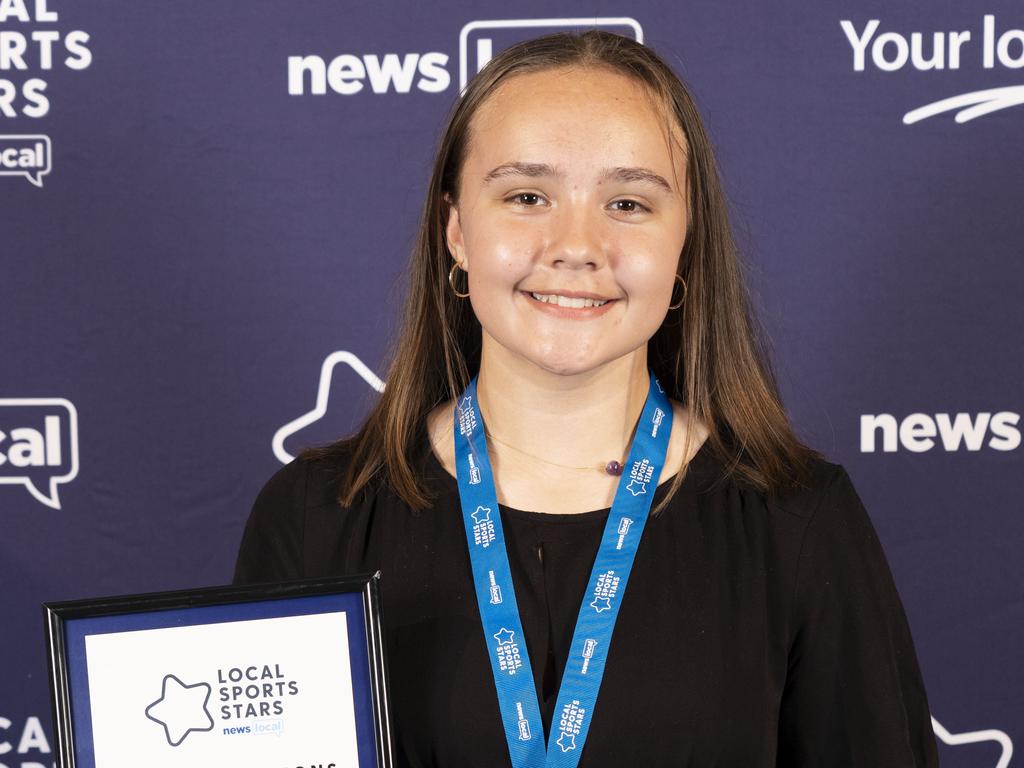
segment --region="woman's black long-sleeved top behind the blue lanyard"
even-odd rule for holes
[[[382,571],[399,766],[507,766],[456,479],[414,514],[386,484],[335,501],[344,455],[295,461],[253,507],[237,584]],[[580,765],[937,766],[910,631],[847,472],[781,501],[709,444],[644,530]],[[668,483],[655,492],[664,498]],[[546,729],[607,510],[502,506]]]

